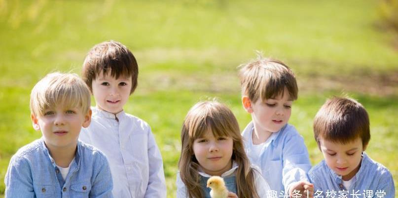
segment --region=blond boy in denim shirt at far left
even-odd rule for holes
[[[48,74],[31,93],[42,137],[18,150],[5,175],[5,198],[113,198],[104,154],[77,141],[91,121],[90,92],[74,74]]]

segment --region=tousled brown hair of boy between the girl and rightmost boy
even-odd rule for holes
[[[257,53],[257,59],[239,66],[242,95],[247,95],[252,102],[258,98],[266,100],[289,91],[289,99],[297,99],[297,82],[293,72],[283,62],[263,58]]]

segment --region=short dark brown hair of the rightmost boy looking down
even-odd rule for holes
[[[315,116],[314,136],[318,145],[319,137],[342,144],[360,137],[365,148],[370,140],[369,117],[356,100],[332,97],[326,100]]]

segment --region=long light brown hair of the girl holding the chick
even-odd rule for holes
[[[195,104],[185,117],[181,130],[181,156],[179,169],[182,182],[189,198],[202,198],[198,168],[200,164],[193,152],[193,142],[211,130],[215,137],[226,136],[233,139],[232,160],[238,163],[236,184],[239,198],[258,198],[254,183],[254,169],[246,156],[239,124],[225,105],[217,101]]]

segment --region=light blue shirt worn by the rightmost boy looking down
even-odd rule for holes
[[[384,198],[394,198],[395,196],[394,180],[390,171],[369,158],[365,152],[362,153],[361,167],[355,175],[356,180],[350,185],[350,189],[346,189],[342,185],[341,175],[337,175],[330,169],[325,160],[311,168],[308,177],[310,182],[314,183],[314,193],[319,192],[314,196],[326,198],[326,192],[329,192],[329,197],[332,195],[338,197],[342,193],[348,193],[347,197],[353,197],[351,194],[360,194],[360,198],[377,197],[376,194],[383,195]],[[369,196],[363,196],[366,194]]]

